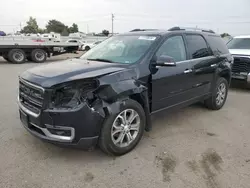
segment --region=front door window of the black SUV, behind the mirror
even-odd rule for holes
[[[175,61],[186,60],[186,50],[182,36],[168,38],[156,53],[157,57],[161,55],[170,56]]]

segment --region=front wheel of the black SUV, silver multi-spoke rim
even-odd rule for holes
[[[133,150],[145,129],[145,113],[134,100],[126,100],[120,111],[110,114],[101,131],[99,146],[109,155],[124,155]]]

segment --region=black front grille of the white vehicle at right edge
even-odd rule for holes
[[[250,58],[247,57],[234,57],[232,72],[250,72]]]

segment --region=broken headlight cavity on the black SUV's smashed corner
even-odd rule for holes
[[[75,109],[93,97],[97,88],[95,81],[68,84],[55,89],[50,102],[50,109]]]

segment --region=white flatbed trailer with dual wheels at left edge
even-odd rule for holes
[[[2,40],[0,41],[0,56],[11,63],[21,64],[26,60],[43,63],[47,57],[64,53],[75,53],[79,45],[66,42],[44,42],[40,40]]]

